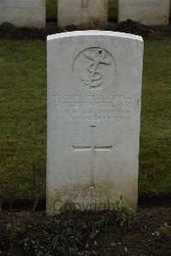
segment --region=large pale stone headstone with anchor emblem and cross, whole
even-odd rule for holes
[[[136,208],[143,39],[48,37],[47,212]]]

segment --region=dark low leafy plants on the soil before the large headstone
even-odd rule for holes
[[[54,222],[44,222],[40,225],[40,235],[25,238],[23,247],[32,256],[91,256],[91,249],[87,247],[85,239],[94,239],[107,225],[107,220],[101,219],[94,223],[75,223],[74,220],[55,219]],[[80,231],[81,230],[81,233]]]

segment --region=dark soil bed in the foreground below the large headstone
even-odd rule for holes
[[[0,214],[0,255],[171,255],[171,205],[140,206],[137,222],[124,227],[112,211],[70,211],[56,218],[14,211],[13,218],[18,235],[9,232],[9,212]]]

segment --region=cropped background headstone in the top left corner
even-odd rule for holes
[[[0,0],[0,24],[45,27],[45,0]]]

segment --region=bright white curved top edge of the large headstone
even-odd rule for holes
[[[47,41],[54,40],[54,39],[69,38],[69,37],[79,37],[79,36],[109,36],[109,37],[122,38],[122,39],[139,40],[141,42],[144,41],[141,36],[134,35],[131,33],[120,33],[120,32],[101,31],[101,30],[85,30],[85,31],[56,33],[56,34],[47,36]]]

